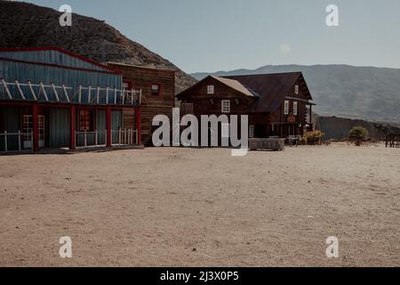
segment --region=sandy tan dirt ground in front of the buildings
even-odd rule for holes
[[[400,265],[400,150],[0,157],[1,266]],[[59,239],[70,236],[70,259]],[[340,257],[325,255],[327,237]]]

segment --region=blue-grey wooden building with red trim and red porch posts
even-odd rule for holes
[[[140,106],[140,89],[98,62],[57,47],[0,50],[0,151],[137,146]]]

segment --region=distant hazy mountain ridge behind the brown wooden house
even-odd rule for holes
[[[213,75],[260,74],[302,71],[324,116],[400,123],[400,69],[348,65],[285,65],[260,69],[237,69]],[[192,74],[196,79],[209,73]]]

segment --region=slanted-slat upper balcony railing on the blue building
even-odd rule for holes
[[[73,88],[66,85],[44,85],[43,82],[38,84],[30,81],[20,83],[18,80],[5,82],[4,79],[0,79],[0,100],[140,106],[141,89],[117,89],[91,85],[79,85]]]

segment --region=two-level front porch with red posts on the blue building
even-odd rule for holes
[[[140,124],[141,90],[0,80],[0,152],[140,146]]]

